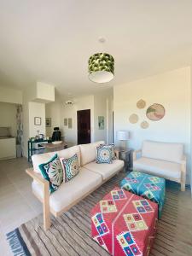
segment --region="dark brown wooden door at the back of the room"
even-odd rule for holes
[[[90,109],[79,110],[78,115],[78,144],[90,143]]]

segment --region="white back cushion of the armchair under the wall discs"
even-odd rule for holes
[[[181,160],[183,160],[183,144],[144,141],[142,156],[157,160],[167,160],[170,162],[180,163]]]

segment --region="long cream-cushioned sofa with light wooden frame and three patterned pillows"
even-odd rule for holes
[[[45,230],[50,226],[49,212],[55,217],[61,215],[123,169],[124,161],[118,159],[113,160],[113,164],[96,164],[96,146],[103,143],[84,144],[61,151],[32,155],[33,168],[27,169],[26,172],[33,178],[33,194],[43,203]],[[60,158],[78,154],[79,174],[67,183],[62,183],[59,189],[49,195],[49,182],[42,177],[38,166],[47,162],[55,153]]]

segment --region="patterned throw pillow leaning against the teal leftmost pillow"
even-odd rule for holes
[[[75,177],[79,173],[78,155],[74,154],[72,157],[65,159],[61,158],[61,166],[63,168],[63,180],[65,183]]]

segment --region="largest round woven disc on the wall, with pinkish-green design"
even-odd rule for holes
[[[146,111],[146,116],[152,121],[159,121],[164,117],[165,113],[166,110],[162,105],[154,103],[153,105],[148,107]]]

